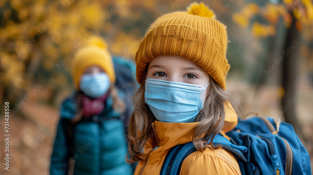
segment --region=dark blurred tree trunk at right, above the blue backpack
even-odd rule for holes
[[[292,13],[291,13],[292,14]],[[295,17],[292,15],[292,23],[290,28],[288,29],[287,32],[287,37],[286,37],[286,43],[285,43],[285,49],[289,49],[293,47],[293,43],[299,39],[300,35],[298,31],[296,30],[295,26]],[[300,47],[294,47],[293,51],[287,51],[288,55],[283,55],[284,60],[282,61],[282,87],[285,90],[285,96],[282,98],[282,105],[286,107],[287,104],[290,104],[288,100],[292,100],[295,95],[295,84],[296,84],[296,73],[297,68],[298,68],[298,62],[297,62],[297,57],[298,57],[298,49]],[[297,98],[297,97],[296,97]],[[289,105],[287,105],[289,106]],[[287,109],[287,110],[286,110]],[[287,123],[290,123],[293,125],[295,128],[295,132],[298,134],[300,138],[303,138],[304,141],[306,141],[306,137],[301,129],[301,125],[298,121],[296,112],[295,112],[295,104],[290,104],[290,108],[286,108],[284,117],[285,121]],[[284,111],[284,110],[282,110]]]

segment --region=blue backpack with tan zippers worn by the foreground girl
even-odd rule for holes
[[[233,153],[243,175],[312,174],[309,153],[289,123],[265,117],[239,119],[226,135],[230,141],[218,134],[213,144]],[[171,148],[160,174],[179,175],[182,162],[195,151],[192,142]]]

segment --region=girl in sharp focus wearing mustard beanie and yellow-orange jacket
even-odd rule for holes
[[[169,149],[188,142],[198,151],[183,161],[180,174],[241,174],[232,153],[205,144],[238,122],[224,91],[225,28],[203,3],[193,3],[148,29],[136,53],[141,96],[128,134],[128,161],[139,161],[134,174],[160,174]]]

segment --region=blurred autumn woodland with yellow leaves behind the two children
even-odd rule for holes
[[[39,135],[57,124],[60,103],[74,91],[71,58],[86,37],[102,36],[112,54],[134,59],[149,25],[162,14],[184,11],[191,2],[1,0],[0,104],[10,103],[12,148],[10,171],[1,168],[0,173],[48,174],[56,130],[43,140]],[[203,2],[228,27],[227,90],[240,116],[256,111],[292,123],[312,160],[312,1]],[[3,107],[0,111],[3,116]],[[3,154],[1,149],[1,160]]]

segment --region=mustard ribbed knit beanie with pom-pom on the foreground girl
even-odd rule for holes
[[[147,64],[159,55],[177,55],[197,63],[225,90],[229,70],[226,26],[202,2],[187,12],[173,12],[156,19],[136,52],[138,83],[145,78]]]

